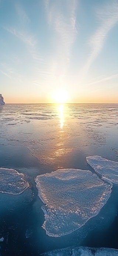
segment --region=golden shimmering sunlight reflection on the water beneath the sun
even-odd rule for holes
[[[68,125],[71,122],[71,110],[67,104],[53,104],[49,107],[51,109],[48,111],[54,114],[55,122],[53,122],[53,129],[52,125],[47,127],[42,123],[42,133],[48,134],[49,139],[45,142],[46,135],[44,135],[44,142],[41,144],[42,150],[40,152],[38,150],[37,158],[42,163],[54,164],[55,168],[59,169],[63,168],[63,157],[74,149],[69,143],[72,133]]]

